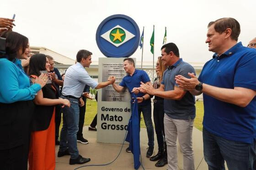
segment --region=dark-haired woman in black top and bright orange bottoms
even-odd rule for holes
[[[35,54],[30,58],[29,75],[34,82],[41,71],[50,71],[48,58]],[[48,80],[45,80],[48,81]],[[69,100],[58,98],[56,87],[49,82],[34,100],[36,104],[32,120],[32,135],[29,149],[29,170],[55,169],[55,105],[70,107]]]

